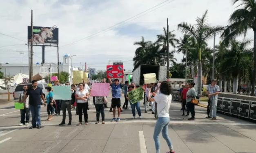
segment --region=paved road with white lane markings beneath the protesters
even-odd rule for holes
[[[123,103],[124,98],[121,101]],[[198,106],[196,121],[188,121],[188,117],[181,116],[180,107],[180,103],[173,101],[169,111],[169,136],[176,153],[256,153],[256,124],[223,114],[218,114],[218,120],[208,120],[206,109]],[[120,122],[110,122],[113,115],[107,108],[106,124],[103,125],[95,124],[96,111],[93,106],[90,108],[89,125],[77,126],[78,116],[72,110],[72,125],[58,126],[62,116],[45,121],[47,111],[42,107],[42,129],[29,129],[31,125],[17,126],[20,110],[14,109],[13,102],[2,104],[0,153],[155,153],[156,120],[150,111],[145,114],[140,107],[142,119],[138,115],[131,119],[131,109],[125,110]],[[168,146],[162,136],[160,143],[161,152],[167,152]]]

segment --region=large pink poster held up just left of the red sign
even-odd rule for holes
[[[91,96],[109,96],[109,83],[93,83]]]

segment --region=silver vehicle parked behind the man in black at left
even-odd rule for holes
[[[14,92],[13,92],[13,99],[19,99],[20,93],[23,92],[23,86],[27,85],[27,87],[32,87],[31,83],[27,83],[27,84],[22,84],[22,85],[17,85],[17,87],[15,88]],[[44,97],[48,94],[46,88],[47,88],[47,83],[38,83],[38,87],[42,88],[42,92],[44,94]]]

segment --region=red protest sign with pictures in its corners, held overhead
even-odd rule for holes
[[[123,78],[124,66],[107,66],[107,78]]]

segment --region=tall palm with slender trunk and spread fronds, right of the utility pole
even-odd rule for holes
[[[198,48],[198,94],[201,94],[201,85],[202,85],[202,59],[201,59],[201,49],[203,44],[206,44],[206,41],[211,39],[214,35],[214,29],[216,34],[224,30],[221,26],[211,27],[207,23],[207,12],[203,13],[202,17],[197,17],[196,25],[189,24],[187,22],[182,22],[178,24],[178,30],[184,34],[188,34],[191,37],[196,39]]]

